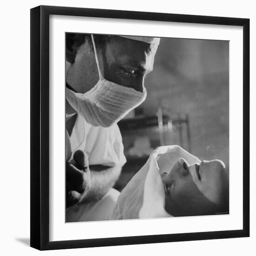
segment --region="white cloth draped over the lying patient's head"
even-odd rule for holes
[[[165,210],[161,174],[168,173],[179,158],[184,158],[189,165],[201,162],[177,145],[155,149],[122,190],[110,220],[171,217]]]

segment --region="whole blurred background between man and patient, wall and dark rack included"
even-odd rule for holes
[[[229,169],[229,41],[161,38],[147,99],[118,125],[122,190],[158,146],[177,144]]]

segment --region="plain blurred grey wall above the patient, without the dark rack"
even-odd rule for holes
[[[145,85],[145,115],[155,115],[158,104],[170,116],[188,114],[192,153],[201,160],[220,159],[228,167],[228,41],[161,39]]]

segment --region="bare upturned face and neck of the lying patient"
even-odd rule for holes
[[[188,166],[180,158],[168,174],[162,174],[166,210],[173,216],[219,213],[227,204],[228,175],[223,162],[203,161]]]

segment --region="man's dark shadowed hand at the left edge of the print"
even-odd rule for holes
[[[80,202],[91,187],[88,156],[77,150],[74,161],[74,165],[66,162],[66,209]]]

